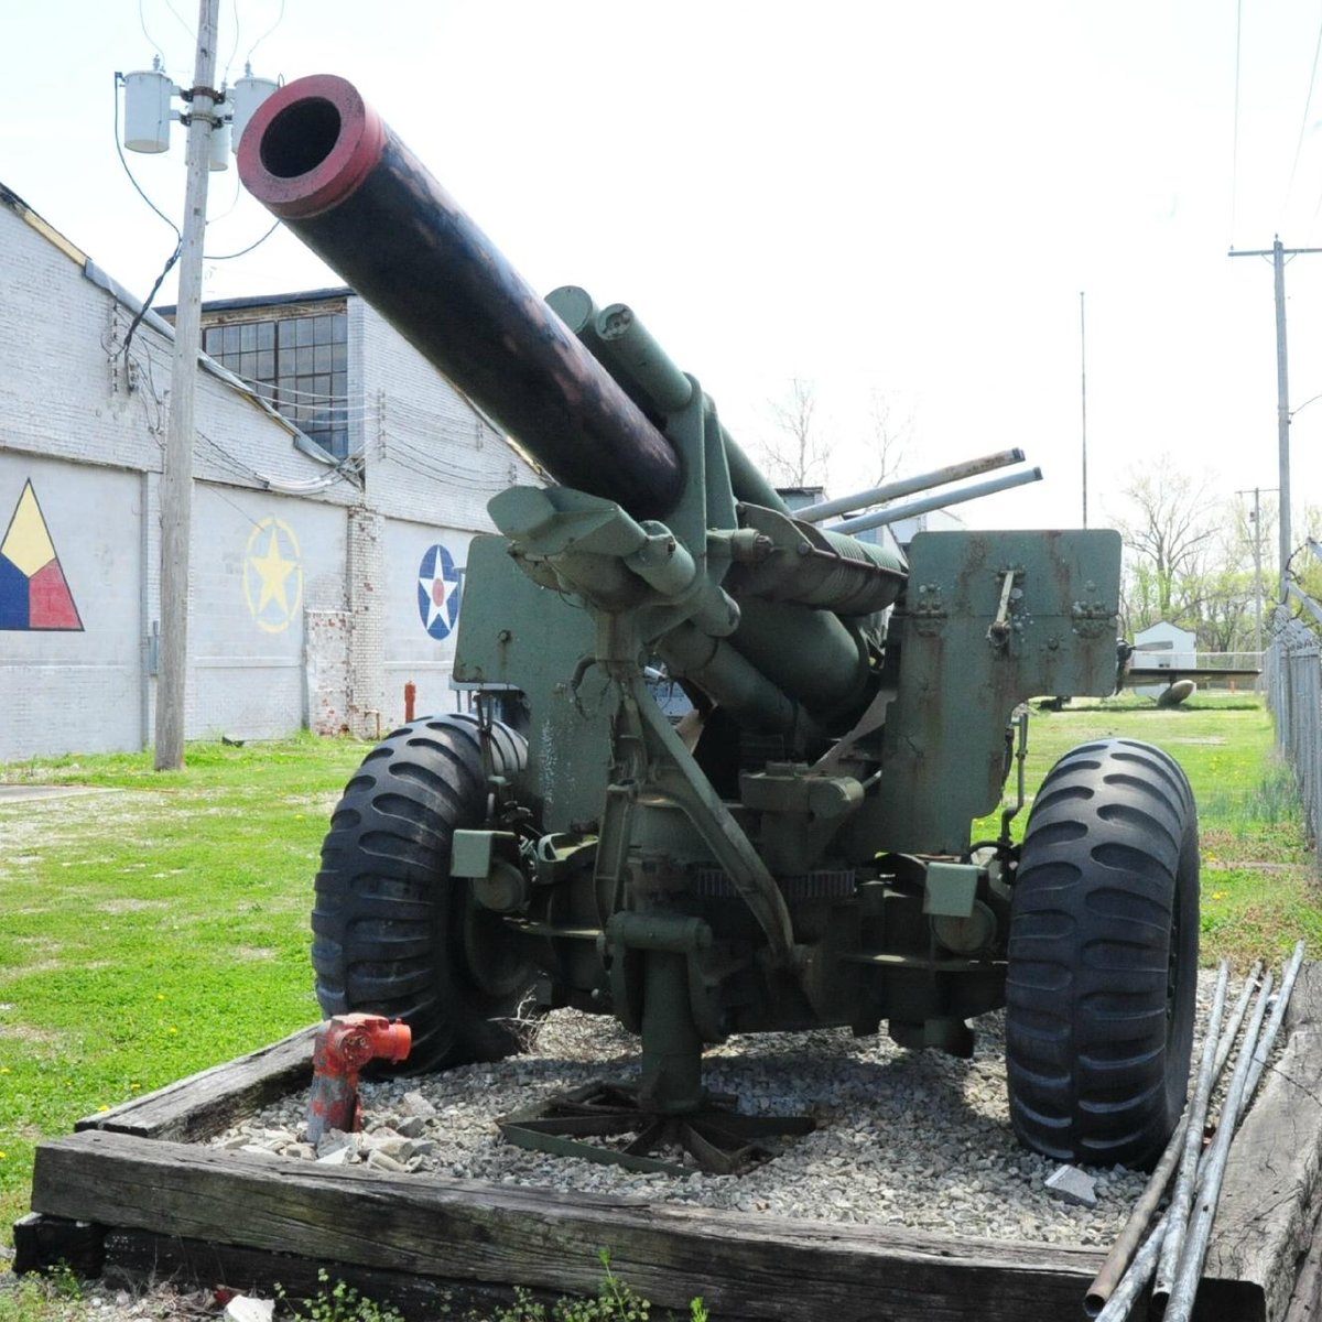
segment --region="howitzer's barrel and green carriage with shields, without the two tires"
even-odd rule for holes
[[[286,135],[327,97],[361,112],[319,87],[263,151],[301,151]],[[1118,535],[920,534],[906,561],[796,518],[631,307],[541,303],[393,134],[348,175],[338,151],[290,178],[260,156],[259,194],[564,484],[496,497],[501,535],[469,547],[453,678],[529,758],[438,884],[468,887],[545,1006],[615,1014],[644,1064],[512,1128],[641,1118],[640,1169],[672,1140],[728,1169],[758,1125],[706,1095],[705,1044],[887,1023],[970,1050],[965,1021],[1005,1002],[1017,862],[1013,810],[990,843],[970,822],[1014,767],[1017,705],[1112,690]],[[654,668],[691,703],[677,720]]]

